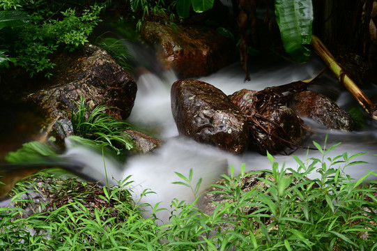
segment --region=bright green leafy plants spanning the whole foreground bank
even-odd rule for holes
[[[42,213],[15,220],[24,213],[22,206],[1,208],[0,240],[7,250],[20,243],[26,250],[376,250],[376,180],[364,181],[377,174],[367,172],[355,181],[344,169],[364,163],[356,160],[364,153],[330,158],[337,145],[314,145],[323,158],[304,162],[293,156],[298,168],[292,169],[280,168],[268,154],[271,169],[245,172],[243,165],[236,176],[232,167],[207,195],[198,195],[201,180],[192,184],[192,172],[188,177],[177,173],[182,181],[176,184],[190,187],[196,199],[171,201],[170,221],[160,226],[156,213],[164,209],[154,206],[151,217],[143,219],[123,190],[130,177],[110,192],[97,188],[100,192],[92,195],[87,183],[77,188],[65,182],[68,188],[56,187],[49,195],[73,192],[77,197],[54,199]],[[312,172],[319,178],[307,178]],[[26,190],[18,190],[15,198]],[[206,202],[209,195],[218,199]],[[91,196],[103,204],[83,201]]]

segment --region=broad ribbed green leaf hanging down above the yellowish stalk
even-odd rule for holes
[[[311,43],[313,6],[311,0],[275,0],[277,24],[286,52],[304,63],[311,52],[303,45]]]

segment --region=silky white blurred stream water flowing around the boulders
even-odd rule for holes
[[[298,80],[311,79],[320,73],[323,68],[325,68],[323,63],[316,58],[302,65],[289,63],[272,66],[266,63],[255,64],[255,66],[251,66],[252,80],[244,82],[245,75],[238,63],[235,63],[218,73],[201,77],[200,80],[213,84],[229,95],[244,88],[261,90],[267,86],[278,86]],[[154,153],[131,156],[123,166],[114,160],[105,160],[108,176],[114,177],[114,180],[110,178],[112,183],[116,183],[115,180],[131,176],[130,179],[134,183],[130,188],[134,192],[135,201],[148,203],[151,206],[161,202],[160,208],[169,208],[170,202],[174,198],[187,202],[193,201],[194,197],[190,188],[173,184],[174,181],[182,181],[175,172],[188,176],[190,169],[193,169],[192,185],[195,186],[199,178],[202,178],[202,191],[206,189],[206,185],[214,183],[221,174],[229,174],[229,165],[233,165],[236,173],[240,172],[240,166],[243,163],[245,163],[247,171],[270,168],[268,158],[259,153],[247,151],[241,155],[232,155],[213,146],[200,144],[192,139],[179,136],[170,105],[171,84],[177,80],[174,73],[167,71],[156,75],[144,70],[144,74],[139,75],[136,80],[138,85],[137,98],[128,122],[140,128],[153,130],[157,137],[163,140],[163,144]],[[348,94],[337,91],[340,87],[331,73],[323,75],[318,84],[312,86],[311,89],[337,98],[338,104],[343,107],[350,104],[354,105],[355,101]],[[313,124],[312,121],[308,121],[308,123]],[[344,171],[353,178],[364,176],[364,174],[367,174],[367,170],[377,172],[377,157],[373,155],[377,153],[374,121],[370,122],[368,128],[357,132],[325,130],[316,126],[315,123],[314,126],[316,133],[307,139],[303,144],[304,146],[313,147],[312,140],[323,145],[325,135],[328,132],[328,146],[337,142],[343,143],[334,151],[331,151],[326,158],[333,158],[344,152],[348,152],[348,155],[369,152],[352,160],[364,160],[369,164],[353,165],[347,167]],[[86,152],[80,153],[81,151]],[[84,154],[86,166],[91,166],[90,168],[97,170],[92,172],[91,175],[98,178],[102,175],[102,181],[104,181],[102,155],[95,156],[96,153],[89,153],[87,149],[77,147],[71,148],[66,154],[70,155],[71,158],[75,156],[74,158],[77,159],[81,158],[79,157],[80,154]],[[307,159],[307,154],[309,158],[322,159],[321,153],[314,150],[298,149],[294,154],[298,155],[304,162]],[[285,167],[293,169],[298,167],[291,155],[276,155],[275,161],[281,165],[285,163]],[[317,177],[315,172],[309,176],[309,178],[315,177]],[[140,198],[139,195],[144,190],[151,190],[155,193]],[[146,209],[149,209],[146,212],[146,216],[148,216],[151,208]],[[169,211],[160,211],[157,216],[166,221],[169,218]]]

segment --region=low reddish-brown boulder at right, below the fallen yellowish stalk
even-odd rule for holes
[[[313,119],[326,128],[353,130],[354,122],[351,115],[321,93],[315,91],[294,93],[289,107],[299,116]]]

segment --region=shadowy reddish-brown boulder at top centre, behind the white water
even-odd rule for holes
[[[206,26],[171,26],[159,22],[143,23],[141,36],[160,45],[157,57],[164,68],[173,68],[180,77],[209,75],[226,66],[231,59],[229,43]]]

